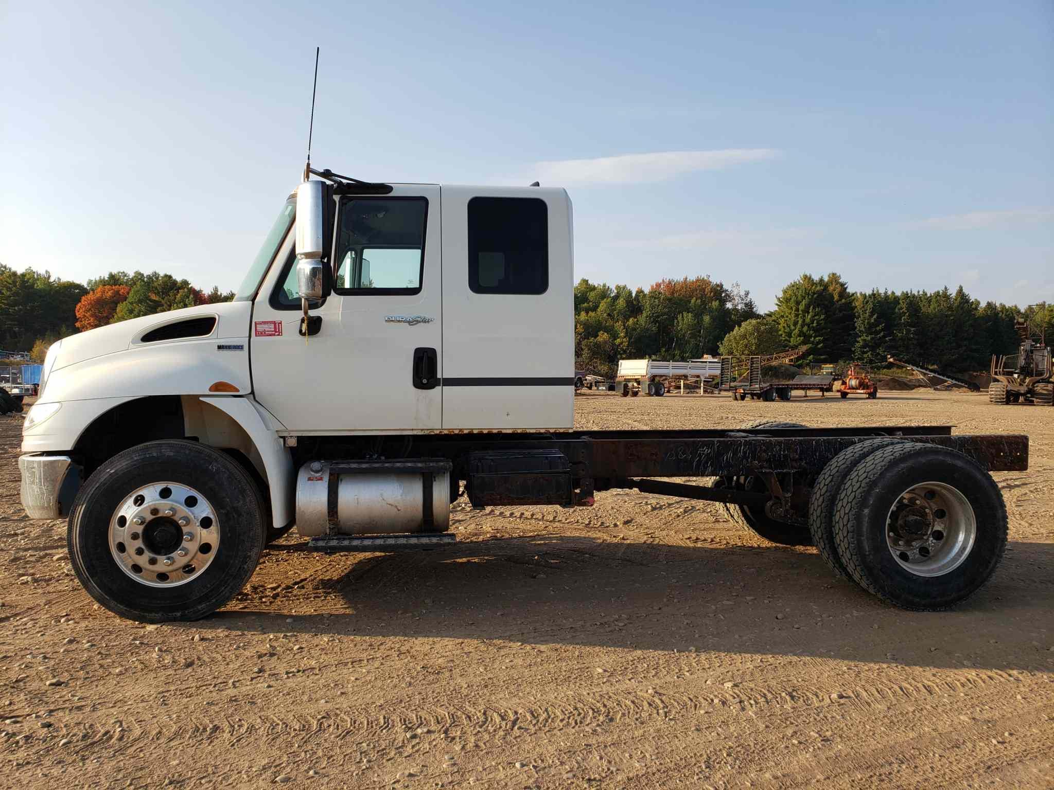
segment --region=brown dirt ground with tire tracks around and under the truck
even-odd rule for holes
[[[1054,412],[926,391],[575,400],[579,428],[941,424],[1028,433],[1011,545],[951,612],[837,581],[711,506],[454,506],[458,545],[287,536],[194,624],[95,606],[18,502],[0,417],[0,786],[789,788],[1054,784]]]

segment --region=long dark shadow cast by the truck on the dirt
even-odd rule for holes
[[[696,648],[935,668],[1054,666],[1052,544],[1012,542],[989,585],[945,612],[887,606],[834,578],[811,549],[546,534],[335,555],[324,567],[302,545],[276,553],[287,573],[302,561],[304,573],[291,574],[298,580],[265,589],[254,577],[236,610],[193,627]],[[272,611],[259,608],[261,597]]]

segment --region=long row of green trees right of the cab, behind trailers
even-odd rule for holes
[[[611,376],[619,359],[686,360],[704,354],[774,354],[807,345],[805,362],[883,367],[892,355],[949,372],[987,371],[993,354],[1017,351],[1019,317],[1054,336],[1050,307],[983,304],[954,292],[853,292],[838,274],[803,274],[776,309],[758,312],[749,292],[709,277],[660,280],[648,290],[580,280],[574,288],[575,366]]]

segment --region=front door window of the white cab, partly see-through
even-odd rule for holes
[[[337,220],[337,294],[421,293],[426,198],[348,198]]]

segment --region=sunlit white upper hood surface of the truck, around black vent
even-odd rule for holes
[[[204,318],[215,316],[216,328],[209,337],[217,340],[223,338],[248,338],[249,319],[252,314],[252,302],[234,301],[219,302],[218,304],[200,304],[196,308],[184,308],[183,310],[173,310],[169,313],[157,313],[155,315],[133,318],[120,323],[111,323],[106,327],[82,332],[79,335],[71,335],[62,338],[59,347],[58,358],[55,360],[53,370],[58,371],[71,364],[83,362],[87,359],[116,354],[119,351],[126,351],[136,345],[142,344],[140,338],[148,332],[164,327],[170,323],[178,323],[189,318]],[[158,344],[187,342],[190,340],[200,340],[201,336],[188,338],[176,338],[172,340],[158,341]],[[154,343],[147,343],[153,345]]]

